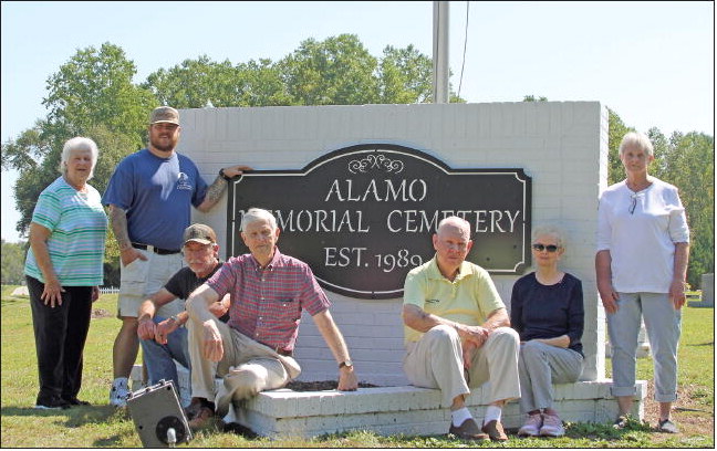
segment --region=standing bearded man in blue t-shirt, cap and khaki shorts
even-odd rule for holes
[[[181,268],[179,250],[191,206],[208,211],[228,180],[250,169],[222,168],[208,187],[194,161],[175,151],[179,112],[160,106],[152,112],[149,122],[149,146],[119,161],[102,197],[119,247],[122,271],[117,301],[122,327],[112,349],[114,381],[110,391],[110,403],[117,407],[126,406],[127,378],[139,349],[137,311]],[[158,314],[170,317],[181,311],[181,304],[175,301]]]

